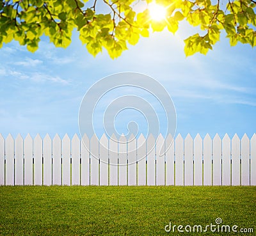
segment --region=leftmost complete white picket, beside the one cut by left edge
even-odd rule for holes
[[[11,134],[8,135],[5,141],[6,153],[6,172],[5,182],[6,185],[14,185],[14,140]]]

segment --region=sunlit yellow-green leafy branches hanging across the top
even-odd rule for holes
[[[166,8],[164,20],[150,18],[148,4],[152,0],[3,0],[0,3],[0,47],[12,40],[27,45],[31,52],[38,49],[42,35],[56,47],[68,47],[74,29],[96,56],[104,47],[111,58],[117,58],[135,45],[140,36],[148,37],[150,29],[171,33],[179,22],[187,20],[198,33],[185,39],[185,54],[206,54],[227,33],[230,45],[237,42],[256,45],[256,15],[254,0],[156,0]],[[136,5],[141,4],[140,11]],[[104,8],[106,6],[106,9]],[[100,10],[104,8],[100,12]],[[108,12],[108,13],[106,13]]]

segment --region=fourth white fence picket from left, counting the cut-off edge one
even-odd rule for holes
[[[33,139],[29,134],[24,140],[24,185],[33,185]]]

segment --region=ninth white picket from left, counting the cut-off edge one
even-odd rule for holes
[[[72,185],[80,185],[80,139],[77,134],[71,140]]]

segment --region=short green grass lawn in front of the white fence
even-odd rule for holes
[[[164,230],[217,217],[253,233]],[[256,187],[0,187],[0,235],[203,234],[256,235]]]

